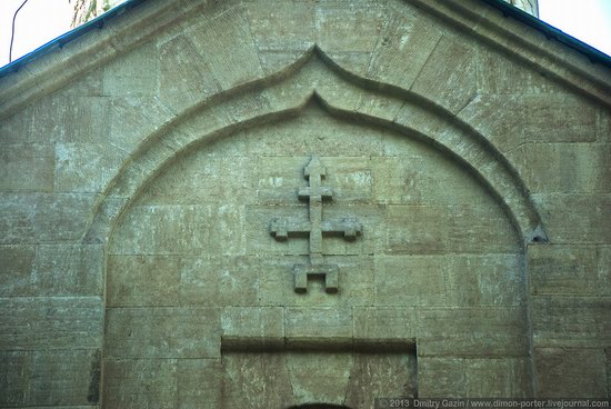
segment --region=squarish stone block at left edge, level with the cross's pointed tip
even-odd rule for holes
[[[50,192],[54,166],[51,144],[3,143],[0,146],[0,190]]]

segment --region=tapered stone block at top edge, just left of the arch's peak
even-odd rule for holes
[[[314,44],[314,4],[309,1],[247,4],[254,44],[264,51],[306,51]]]

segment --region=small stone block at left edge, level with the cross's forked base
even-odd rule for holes
[[[32,295],[33,246],[0,246],[0,297]]]

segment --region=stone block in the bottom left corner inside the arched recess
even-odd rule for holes
[[[177,359],[104,358],[104,406],[176,409],[179,395],[177,367]]]

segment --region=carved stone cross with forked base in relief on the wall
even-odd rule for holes
[[[297,292],[308,291],[308,278],[323,277],[327,292],[338,292],[338,266],[325,265],[322,259],[322,237],[324,235],[341,233],[347,240],[355,240],[361,233],[361,223],[353,218],[341,220],[322,220],[322,202],[331,200],[333,191],[331,188],[322,186],[322,179],[327,170],[322,162],[312,157],[303,176],[309,181],[309,187],[299,189],[300,200],[308,200],[309,220],[300,221],[296,219],[273,219],[270,226],[270,232],[276,240],[284,241],[291,235],[308,235],[310,239],[310,263],[296,265],[294,290]]]

